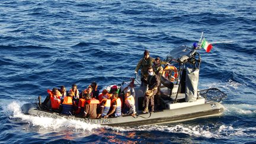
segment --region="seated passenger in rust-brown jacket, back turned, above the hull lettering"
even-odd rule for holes
[[[96,100],[95,98],[91,98],[89,94],[85,95],[85,108],[84,108],[84,116],[88,117],[89,119],[96,119],[97,118],[97,104],[100,101]]]

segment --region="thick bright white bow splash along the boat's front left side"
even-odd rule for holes
[[[67,120],[67,119],[52,119],[48,117],[38,117],[38,116],[30,116],[21,113],[21,105],[23,103],[14,101],[4,108],[5,113],[11,114],[9,117],[11,119],[21,119],[25,123],[29,123],[32,126],[39,126],[43,129],[59,129],[60,127],[66,127],[71,130],[86,130],[91,131],[93,129],[98,129],[101,127],[98,124],[88,124],[82,121],[76,120]]]

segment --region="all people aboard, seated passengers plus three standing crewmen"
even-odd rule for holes
[[[151,106],[151,111],[154,111],[155,103],[156,109],[161,108],[160,85],[163,72],[162,64],[167,64],[167,62],[162,62],[159,57],[153,59],[149,56],[148,50],[145,50],[144,56],[137,63],[135,73],[141,69],[142,85],[145,84],[147,87],[143,101],[143,113],[149,112],[149,106]],[[66,92],[64,86],[61,86],[60,89],[53,88],[52,91],[47,91],[49,96],[44,100],[43,108],[62,114],[75,114],[90,119],[107,118],[109,116],[119,117],[121,113],[135,116],[135,89],[133,84],[122,89],[121,92],[120,88],[114,85],[110,88],[110,91],[104,89],[100,95],[97,87],[97,83],[92,82],[88,88],[80,93],[76,84],[72,85],[69,92]]]

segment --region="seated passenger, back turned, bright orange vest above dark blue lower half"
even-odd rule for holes
[[[68,93],[67,97],[64,97],[62,103],[62,114],[69,114],[72,115],[72,94]]]

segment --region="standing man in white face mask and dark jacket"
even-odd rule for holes
[[[144,96],[144,110],[142,113],[149,112],[149,100],[151,101],[151,111],[154,111],[154,95],[158,91],[158,86],[160,85],[160,80],[158,76],[153,72],[152,66],[148,68],[148,90]]]

